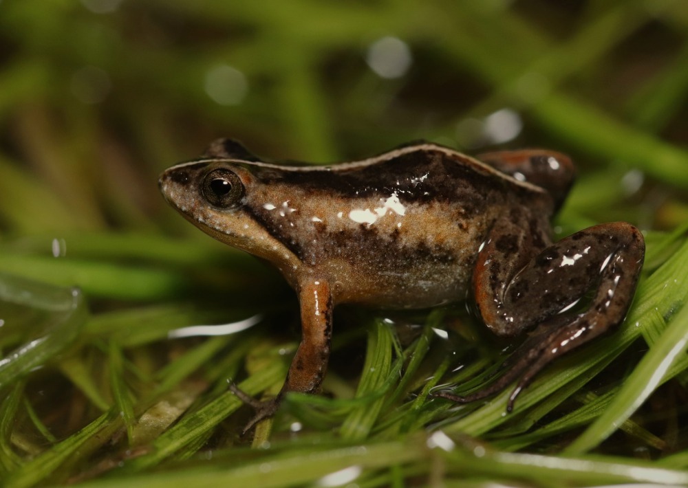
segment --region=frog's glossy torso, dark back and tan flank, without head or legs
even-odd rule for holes
[[[492,223],[539,193],[432,144],[255,175],[251,206],[268,232],[338,283],[340,301],[383,307],[462,300]]]

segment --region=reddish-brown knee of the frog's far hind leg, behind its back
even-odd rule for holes
[[[570,157],[546,149],[496,151],[476,158],[519,181],[544,188],[552,195],[557,208],[566,198],[575,175]]]

